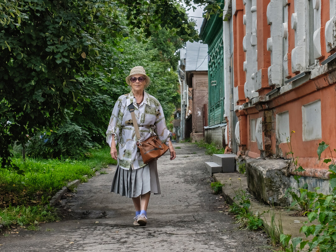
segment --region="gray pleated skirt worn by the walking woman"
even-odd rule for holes
[[[161,194],[157,160],[135,170],[125,170],[118,165],[111,192],[128,198],[136,198],[148,192]]]

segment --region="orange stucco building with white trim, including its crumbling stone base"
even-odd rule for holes
[[[336,148],[336,0],[222,2],[226,146],[246,163],[249,190],[268,203],[288,203],[293,151],[305,169],[302,182],[327,193],[328,166],[317,149],[322,141]],[[211,33],[206,23],[202,39]]]

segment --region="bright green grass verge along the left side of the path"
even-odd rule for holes
[[[24,175],[0,169],[0,224],[5,228],[33,228],[39,222],[56,220],[55,209],[44,207],[58,190],[69,181],[84,182],[101,167],[116,164],[108,146],[92,150],[82,160],[16,158],[13,162],[24,170]]]

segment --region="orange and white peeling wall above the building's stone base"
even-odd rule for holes
[[[240,62],[242,53],[245,60],[234,64],[238,123],[228,122],[228,132],[235,132],[239,153],[289,158],[286,137],[294,130],[299,160],[307,168],[326,169],[316,161],[316,150],[323,140],[336,148],[336,59],[321,63],[336,52],[336,0],[236,0],[234,20],[242,4],[242,22],[233,29],[244,34],[241,39],[234,31],[233,60]]]

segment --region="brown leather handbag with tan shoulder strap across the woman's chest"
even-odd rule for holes
[[[148,164],[153,159],[157,159],[161,157],[163,154],[168,151],[168,146],[164,143],[162,143],[158,136],[151,136],[150,138],[141,141],[140,132],[138,123],[135,118],[134,114],[134,105],[131,103],[128,106],[129,112],[132,116],[132,122],[135,130],[136,140],[139,142],[138,148],[140,150],[140,154],[142,157],[142,161],[144,164]]]

